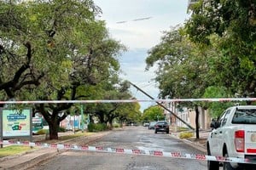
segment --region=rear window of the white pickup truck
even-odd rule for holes
[[[256,124],[256,109],[236,110],[232,123],[234,124]]]

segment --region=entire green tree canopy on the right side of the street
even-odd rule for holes
[[[160,96],[255,96],[255,2],[201,0],[189,11],[184,26],[165,31],[160,43],[148,51],[147,69],[158,65],[155,81]]]

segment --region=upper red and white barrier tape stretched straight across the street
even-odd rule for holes
[[[230,102],[230,101],[256,101],[256,98],[212,98],[212,99],[98,99],[98,100],[39,100],[39,101],[0,101],[0,104],[85,104],[85,103],[135,103],[135,102]]]

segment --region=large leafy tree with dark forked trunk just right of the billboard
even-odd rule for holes
[[[124,47],[108,37],[104,22],[95,19],[101,10],[93,1],[1,2],[1,10],[2,46],[22,54],[22,44],[31,44],[29,66],[41,80],[37,88],[30,86],[15,94],[16,99],[85,99],[86,88],[119,70],[116,57]],[[19,56],[13,55],[16,60]],[[58,139],[59,122],[70,114],[72,105],[35,105],[49,123],[50,139]]]

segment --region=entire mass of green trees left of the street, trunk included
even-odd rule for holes
[[[1,99],[131,98],[119,79],[118,56],[125,47],[96,20],[101,13],[91,0],[1,1]],[[58,138],[73,106],[34,105],[49,123],[50,139]]]

